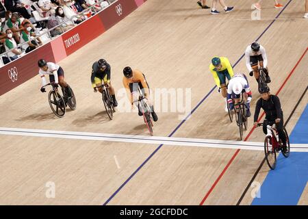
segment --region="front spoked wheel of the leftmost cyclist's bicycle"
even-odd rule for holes
[[[58,92],[55,92],[55,90],[51,90],[48,94],[48,101],[53,113],[62,118],[66,110],[66,105],[62,96]]]

